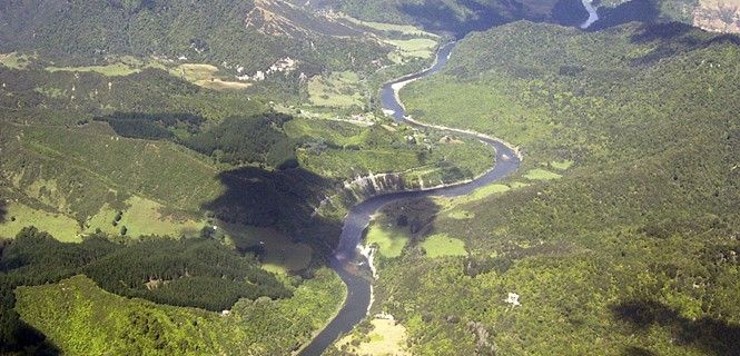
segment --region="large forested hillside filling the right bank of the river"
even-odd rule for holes
[[[463,40],[402,97],[417,120],[519,145],[524,165],[471,197],[387,207],[368,231],[384,244],[373,313],[414,355],[737,354],[739,42],[531,22]]]

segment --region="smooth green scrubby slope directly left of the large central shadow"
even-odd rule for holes
[[[66,166],[97,177],[110,189],[137,187],[138,195],[168,207],[197,210],[223,191],[210,162],[172,142],[60,131],[53,127],[29,127],[23,132],[22,145],[27,149],[55,159],[63,157]],[[162,182],[162,177],[172,180]]]

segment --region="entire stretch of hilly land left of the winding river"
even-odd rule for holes
[[[417,28],[258,1],[247,22],[274,20],[269,9],[279,21],[241,29],[279,50],[332,57],[319,47],[329,43],[339,55],[270,59],[272,75],[245,81],[235,62],[172,61],[165,47],[127,42],[137,17],[170,21],[194,7],[208,20],[184,14],[182,26],[210,29],[224,24],[207,12],[218,7],[34,4],[0,4],[16,26],[2,36],[19,41],[0,44],[18,49],[0,55],[0,353],[283,355],[341,306],[344,287],[324,266],[347,207],[378,192],[363,177],[388,174],[387,189],[454,182],[492,159],[477,141],[369,111],[367,86],[431,60],[440,38]],[[108,34],[66,28],[89,21],[115,23]],[[95,43],[110,47],[89,52]],[[221,60],[194,43],[196,61]],[[221,46],[254,50],[235,43]],[[369,52],[381,60],[348,56]]]

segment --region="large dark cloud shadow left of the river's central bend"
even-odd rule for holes
[[[334,182],[303,168],[238,168],[218,175],[225,192],[204,205],[230,224],[274,227],[328,256],[342,231],[341,221],[314,215]]]

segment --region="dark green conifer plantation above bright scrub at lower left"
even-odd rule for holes
[[[146,237],[112,243],[90,236],[81,244],[60,243],[36,228],[23,229],[0,250],[2,352],[37,342],[13,310],[13,289],[57,283],[85,274],[118,295],[174,306],[220,312],[240,298],[286,298],[290,291],[259,267],[219,241]]]

